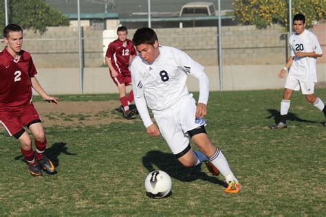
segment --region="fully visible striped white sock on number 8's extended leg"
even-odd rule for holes
[[[216,149],[215,154],[212,157],[208,158],[213,165],[215,165],[215,168],[221,172],[221,174],[226,178],[226,182],[230,181],[237,181],[235,178],[235,175],[232,173],[230,167],[228,166],[228,161],[226,161],[226,158],[224,157],[221,150],[218,148]]]

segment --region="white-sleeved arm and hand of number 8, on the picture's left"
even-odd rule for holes
[[[152,122],[151,116],[149,116],[149,110],[147,109],[146,100],[144,98],[144,87],[142,86],[138,71],[135,69],[134,65],[135,63],[131,64],[130,67],[131,81],[133,84],[133,100],[135,100],[135,105],[137,106],[138,113],[142,118],[147,133],[152,136],[159,136],[160,130],[158,130],[157,126]]]

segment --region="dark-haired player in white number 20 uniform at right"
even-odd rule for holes
[[[281,101],[281,121],[272,129],[287,128],[286,116],[290,109],[290,98],[293,91],[299,91],[305,95],[308,102],[324,113],[324,123],[326,126],[326,106],[320,98],[314,95],[314,87],[317,82],[316,58],[323,56],[323,52],[318,43],[317,37],[305,30],[305,16],[296,14],[293,18],[295,33],[290,37],[291,57],[278,76],[285,77],[285,73],[290,69],[285,82],[285,91]]]

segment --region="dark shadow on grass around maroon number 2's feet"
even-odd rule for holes
[[[68,148],[66,147],[67,144],[64,142],[58,142],[53,144],[50,148],[45,149],[45,155],[52,161],[54,167],[58,167],[59,165],[59,159],[58,156],[61,155],[61,153],[65,154],[65,155],[77,155],[77,154],[73,154],[68,152]],[[25,158],[23,155],[18,155],[16,157],[14,157],[15,161],[21,160],[21,161],[25,161]]]

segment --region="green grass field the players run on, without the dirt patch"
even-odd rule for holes
[[[237,195],[224,194],[224,178],[210,176],[204,165],[183,168],[162,137],[146,135],[140,119],[45,128],[46,154],[57,174],[42,177],[28,174],[17,140],[1,128],[0,216],[325,216],[323,114],[295,93],[289,128],[270,130],[282,93],[210,93],[206,130],[242,184]],[[316,94],[326,102],[326,89]],[[103,101],[117,95],[60,97]],[[144,179],[157,169],[171,175],[168,198],[145,195]]]

